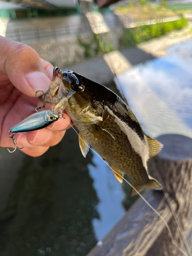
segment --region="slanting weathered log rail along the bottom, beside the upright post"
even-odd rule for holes
[[[143,196],[169,222],[172,214],[161,192],[148,190]],[[174,203],[172,206],[177,207]],[[162,220],[139,198],[88,256],[144,256],[164,227]]]

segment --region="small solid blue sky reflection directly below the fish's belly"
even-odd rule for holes
[[[118,220],[124,215],[121,205],[123,193],[121,183],[117,182],[111,168],[97,156],[93,157],[96,166],[89,165],[90,175],[94,180],[94,188],[100,201],[97,206],[99,219],[93,220],[97,238],[101,240]]]

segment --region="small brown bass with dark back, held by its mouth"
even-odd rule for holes
[[[148,175],[147,161],[163,145],[145,134],[132,110],[118,95],[102,84],[57,67],[48,91],[52,97],[47,101],[52,103],[59,104],[67,97],[65,112],[79,131],[84,157],[91,146],[109,163],[119,182],[126,174],[138,191],[162,188]],[[134,194],[132,188],[131,195]]]

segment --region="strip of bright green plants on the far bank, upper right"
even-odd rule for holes
[[[144,25],[133,29],[124,29],[119,39],[120,46],[134,46],[140,42],[164,35],[171,30],[180,30],[187,26],[187,20],[181,18],[173,22]]]

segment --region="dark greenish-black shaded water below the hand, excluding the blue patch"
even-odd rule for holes
[[[81,157],[72,133],[38,158],[1,154],[2,170],[16,176],[0,213],[1,255],[85,255],[96,244],[98,198],[86,167],[92,154]]]

